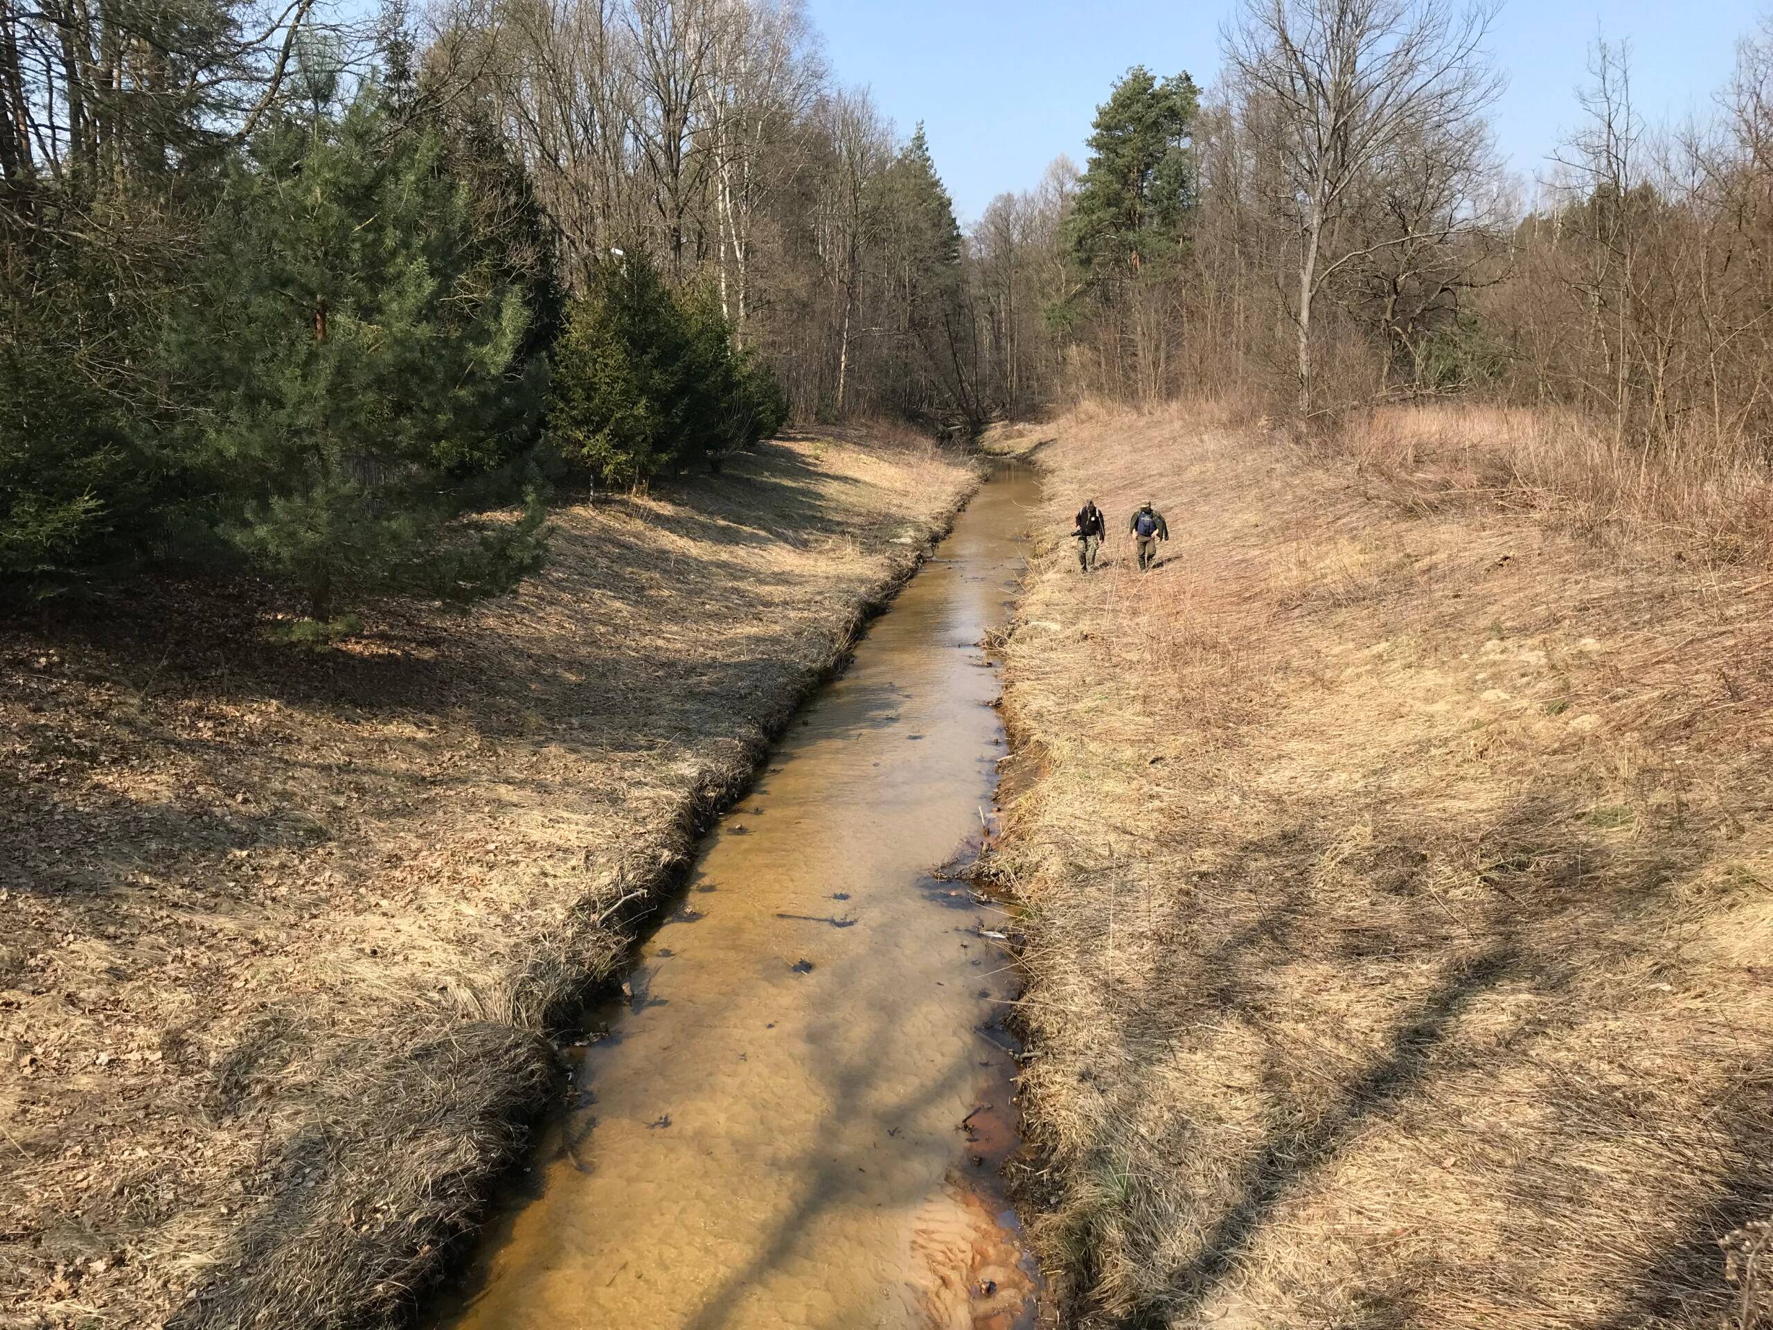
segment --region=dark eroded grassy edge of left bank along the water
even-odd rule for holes
[[[534,940],[534,959],[512,986],[514,1005],[527,1020],[465,1021],[438,1041],[447,1046],[402,1048],[388,1057],[390,1075],[376,1082],[387,1092],[360,1101],[356,1130],[333,1121],[294,1133],[275,1188],[259,1197],[238,1225],[222,1268],[168,1319],[168,1330],[245,1325],[360,1330],[415,1323],[426,1295],[479,1236],[500,1181],[528,1153],[534,1126],[560,1098],[566,1068],[558,1041],[629,970],[638,940],[681,894],[700,837],[754,784],[775,741],[842,670],[867,626],[954,528],[984,479],[984,463],[975,463],[973,482],[922,523],[915,544],[902,553],[894,546],[888,571],[853,601],[823,656],[805,663],[741,750],[730,761],[700,768],[660,828],[622,848],[610,872],[587,885],[569,906],[567,927]],[[408,1195],[385,1202],[395,1218],[362,1227],[346,1222],[348,1236],[326,1225],[328,1240],[316,1241],[312,1229],[324,1222],[323,1211],[356,1213],[363,1192],[387,1197],[387,1186],[353,1179],[369,1181],[376,1165],[390,1162],[351,1160],[353,1144],[374,1142],[381,1135],[374,1124],[413,1114],[402,1091],[415,1082],[447,1087],[443,1101],[427,1105],[433,1117],[445,1121],[434,1123],[426,1140],[413,1142],[422,1147],[415,1154],[433,1162],[431,1167],[406,1169],[401,1192]],[[330,1169],[330,1186],[314,1186],[316,1167]],[[326,1193],[340,1204],[326,1206]]]

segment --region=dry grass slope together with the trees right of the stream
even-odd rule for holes
[[[1605,37],[1525,183],[1493,18],[1250,0],[991,215],[1057,385],[993,440],[1051,440],[998,867],[1066,1325],[1773,1318],[1773,34],[1681,124]],[[1076,573],[1089,497],[1151,575]]]

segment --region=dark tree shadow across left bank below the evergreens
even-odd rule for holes
[[[48,848],[32,855],[41,890],[80,896],[149,860],[199,872],[225,849],[324,841],[339,812],[328,791],[351,793],[351,816],[422,821],[488,766],[500,798],[546,802],[560,759],[606,766],[691,738],[754,743],[821,663],[791,658],[777,622],[784,605],[808,608],[817,575],[748,562],[741,546],[847,532],[858,484],[764,445],[725,477],[670,486],[683,502],[629,505],[631,523],[564,527],[553,567],[459,631],[447,615],[390,606],[346,649],[278,647],[257,630],[264,587],[167,580],[50,605],[34,626],[0,622],[0,672],[21,683],[0,716],[11,709],[25,741],[20,778],[0,780],[0,819],[23,828],[20,858]],[[661,557],[647,527],[684,541]],[[720,637],[693,649],[637,637],[647,624],[695,637],[704,622]],[[888,704],[872,724],[890,720]],[[498,745],[491,755],[484,741]],[[463,750],[475,763],[456,763]],[[76,825],[89,832],[82,853],[50,853]]]

